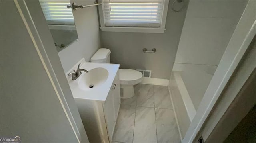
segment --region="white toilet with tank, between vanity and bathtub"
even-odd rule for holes
[[[92,56],[91,62],[110,63],[110,53],[109,49],[100,48]],[[119,69],[119,80],[121,98],[131,98],[134,96],[133,86],[142,81],[142,73],[133,69]]]

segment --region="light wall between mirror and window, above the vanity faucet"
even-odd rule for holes
[[[94,4],[95,0],[70,0],[77,5]],[[92,55],[100,48],[100,33],[97,7],[88,7],[73,11],[78,41],[58,53],[64,72],[76,62],[85,58],[90,61]]]

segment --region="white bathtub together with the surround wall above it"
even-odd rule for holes
[[[169,83],[182,138],[194,119],[247,2],[195,0],[188,4]]]

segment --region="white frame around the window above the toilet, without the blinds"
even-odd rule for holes
[[[103,0],[99,0],[102,3]],[[100,29],[104,32],[134,32],[134,33],[164,33],[165,23],[168,12],[169,0],[164,0],[163,4],[163,14],[160,27],[110,27],[105,26],[105,19],[103,14],[102,5],[98,6],[99,16],[100,16]]]

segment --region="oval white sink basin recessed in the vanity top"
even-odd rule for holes
[[[99,88],[108,79],[108,70],[105,68],[94,68],[79,77],[78,86],[81,90],[94,90]]]

